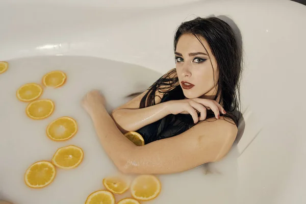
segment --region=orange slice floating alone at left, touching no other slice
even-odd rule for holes
[[[78,131],[77,122],[70,117],[61,117],[47,126],[47,136],[55,141],[64,141],[70,139]]]

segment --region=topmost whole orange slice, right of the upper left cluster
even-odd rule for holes
[[[43,85],[47,87],[60,87],[66,82],[66,74],[62,71],[51,71],[46,73],[42,78]]]

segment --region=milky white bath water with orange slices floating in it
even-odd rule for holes
[[[0,198],[22,204],[84,203],[87,196],[104,189],[102,180],[118,171],[105,154],[92,122],[80,105],[82,96],[99,89],[107,99],[107,109],[126,103],[125,95],[143,91],[161,74],[132,64],[91,57],[34,57],[9,61],[9,69],[0,74]],[[169,67],[170,69],[171,67]],[[25,83],[41,83],[45,73],[62,70],[67,74],[64,86],[45,88],[41,99],[55,102],[54,113],[43,120],[25,114],[27,103],[16,98],[16,90]],[[78,133],[70,140],[54,142],[45,134],[47,124],[61,116],[77,120]],[[69,144],[84,150],[81,165],[72,170],[57,168],[52,184],[31,189],[23,182],[25,170],[34,162],[50,160],[55,151]],[[234,146],[220,162],[200,166],[184,173],[159,175],[159,197],[143,203],[236,203],[237,155]],[[118,201],[130,192],[116,196]]]

